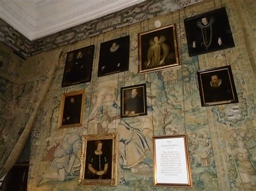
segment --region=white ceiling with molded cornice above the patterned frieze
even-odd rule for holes
[[[0,18],[30,40],[146,0],[0,0]]]

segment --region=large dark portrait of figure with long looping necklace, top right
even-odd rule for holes
[[[188,54],[204,54],[234,47],[225,8],[184,19]]]

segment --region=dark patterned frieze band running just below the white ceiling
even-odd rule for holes
[[[42,3],[40,0],[31,1],[35,4]],[[201,1],[203,0],[150,0],[33,41],[0,19],[0,41],[16,49],[22,55],[30,56],[164,15]]]

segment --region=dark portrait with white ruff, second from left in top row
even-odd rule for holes
[[[100,44],[98,77],[129,70],[130,36]]]

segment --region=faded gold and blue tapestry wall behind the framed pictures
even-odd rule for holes
[[[183,19],[221,6],[226,8],[235,47],[189,57]],[[77,171],[65,172],[65,181],[58,180],[60,173],[51,169],[52,161],[55,160],[55,149],[74,132],[82,136],[117,131],[120,110],[114,103],[120,105],[120,87],[146,83],[147,95],[150,95],[147,97],[148,115],[124,118],[124,121],[143,134],[150,150],[138,154],[138,148],[134,147],[133,153],[125,153],[125,147],[131,147],[131,144],[119,142],[119,154],[126,155],[127,159],[124,166],[119,166],[119,184],[116,188],[103,187],[102,190],[169,189],[153,187],[151,141],[153,135],[174,133],[188,135],[193,190],[255,190],[255,10],[255,4],[249,0],[208,0],[76,44],[31,56],[22,63],[13,62],[11,71],[14,70],[21,76],[16,84],[21,83],[22,79],[26,79],[22,84],[33,83],[32,91],[28,91],[25,96],[36,99],[40,97],[41,90],[46,90],[49,85],[49,91],[46,91],[33,124],[28,189],[100,189],[77,186]],[[162,26],[177,24],[182,66],[138,75],[138,33],[154,29],[156,20],[160,20]],[[126,35],[130,35],[129,72],[97,77],[100,43]],[[95,45],[95,58],[91,82],[61,88],[66,53],[92,44]],[[32,65],[35,62],[37,65]],[[202,108],[196,72],[226,65],[231,65],[239,103]],[[55,69],[53,66],[57,66],[57,69],[50,82],[48,79]],[[20,70],[24,67],[26,69]],[[10,68],[5,68],[7,70]],[[2,80],[7,79],[3,71]],[[33,71],[38,74],[30,76]],[[15,79],[15,74],[10,73],[8,77],[9,80]],[[10,84],[11,87],[17,86],[8,80],[3,83]],[[63,93],[76,90],[85,90],[83,126],[58,129],[60,98]],[[237,106],[239,110],[234,112],[233,106]],[[233,117],[228,115],[231,113]],[[131,143],[138,143],[138,140],[132,139]],[[203,153],[209,150],[205,156]],[[129,166],[129,159],[134,154],[141,155],[142,160],[137,165]],[[41,178],[42,181],[37,185]]]

